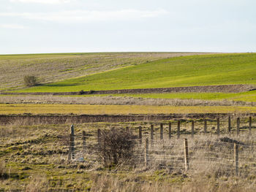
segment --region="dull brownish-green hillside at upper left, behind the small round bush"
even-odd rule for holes
[[[161,58],[203,53],[58,53],[0,55],[0,91],[23,87],[27,74],[57,82]]]

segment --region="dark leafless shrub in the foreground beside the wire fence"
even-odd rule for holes
[[[133,160],[135,136],[128,131],[108,130],[100,135],[99,156],[106,166],[124,164]]]

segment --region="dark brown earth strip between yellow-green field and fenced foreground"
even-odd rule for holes
[[[200,119],[200,118],[227,118],[227,116],[256,117],[251,114],[228,114],[228,113],[207,113],[207,114],[170,114],[170,115],[0,115],[0,124],[18,123],[31,124],[64,124],[64,123],[93,123],[93,122],[134,122],[134,121],[159,121],[176,119]]]

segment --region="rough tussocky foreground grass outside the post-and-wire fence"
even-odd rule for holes
[[[255,122],[255,121],[254,121]],[[73,162],[67,161],[70,125],[25,125],[14,122],[12,125],[0,126],[0,191],[254,191],[255,177],[233,177],[219,174],[219,169],[206,166],[200,172],[176,172],[165,168],[143,166],[129,168],[125,166],[104,167],[99,161]],[[138,126],[143,126],[143,138],[148,137],[152,122],[138,123],[84,123],[75,124],[75,134],[86,131],[87,146],[96,142],[97,128],[109,129],[129,126],[138,134]],[[165,122],[167,123],[167,122]],[[172,122],[173,124],[176,122]],[[189,137],[188,121],[181,123],[181,137]],[[213,122],[216,123],[216,122]],[[227,133],[227,120],[221,123],[221,133]],[[224,124],[225,123],[225,124]],[[241,123],[244,121],[241,120]],[[248,122],[245,122],[248,124]],[[159,134],[159,123],[154,123],[155,135]],[[187,125],[187,126],[186,126]],[[165,125],[166,126],[166,125]],[[236,126],[232,120],[232,126]],[[200,135],[203,121],[195,120],[195,142],[215,141],[214,131],[209,129],[208,135]],[[253,135],[255,134],[255,130]],[[173,126],[173,141],[176,124]],[[248,140],[247,130],[244,136],[236,139]],[[243,134],[241,132],[241,134]],[[233,128],[232,135],[236,134]],[[165,128],[167,136],[167,128]],[[231,136],[230,136],[231,137]],[[252,138],[252,140],[255,137]],[[81,145],[78,138],[75,146]],[[183,140],[180,139],[183,149]],[[157,144],[155,143],[155,146]],[[162,145],[162,142],[161,142]],[[198,143],[197,143],[198,145]],[[189,150],[192,138],[189,137]],[[208,147],[210,150],[212,147]],[[86,150],[88,150],[87,148]],[[81,149],[79,149],[81,150]],[[173,149],[174,150],[174,149]],[[206,152],[207,152],[206,150]],[[182,153],[183,154],[183,153]],[[189,154],[190,155],[190,154]],[[252,163],[253,160],[246,159]],[[224,161],[223,161],[224,162]],[[215,163],[214,163],[215,164]],[[217,164],[219,165],[219,164]],[[158,167],[158,166],[157,166]],[[206,169],[206,170],[204,170]]]

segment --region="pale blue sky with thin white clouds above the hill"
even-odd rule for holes
[[[256,52],[255,0],[0,3],[0,54]]]

